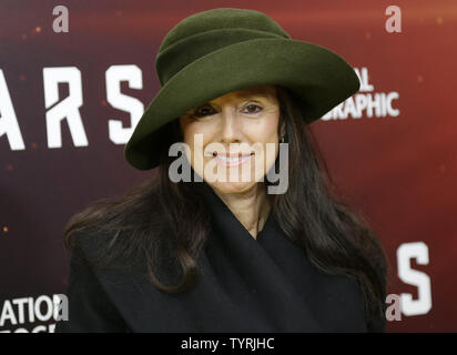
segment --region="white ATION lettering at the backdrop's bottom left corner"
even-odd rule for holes
[[[55,322],[69,320],[64,294],[6,300],[0,308],[0,333],[54,333]]]

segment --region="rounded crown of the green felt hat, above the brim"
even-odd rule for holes
[[[291,36],[263,12],[217,8],[194,13],[163,39],[155,58],[155,69],[163,87],[174,74],[199,58],[243,41]]]

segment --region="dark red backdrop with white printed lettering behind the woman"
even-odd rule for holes
[[[387,332],[456,332],[450,0],[2,0],[0,332],[54,331],[69,271],[64,225],[154,173],[131,168],[123,149],[160,88],[159,45],[183,18],[221,7],[265,12],[354,67],[359,92],[313,130],[386,251]]]

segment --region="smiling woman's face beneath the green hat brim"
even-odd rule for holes
[[[278,152],[278,122],[274,85],[236,90],[180,116],[187,160],[222,193],[251,190],[265,176]]]

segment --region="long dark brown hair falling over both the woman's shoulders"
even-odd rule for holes
[[[368,322],[383,318],[387,263],[379,240],[332,181],[306,124],[303,101],[286,88],[276,89],[278,133],[285,123],[290,171],[286,193],[267,195],[273,216],[285,235],[305,248],[315,267],[358,283]],[[170,144],[182,138],[177,120],[163,131]],[[167,293],[194,284],[199,255],[210,232],[210,213],[189,183],[170,180],[174,159],[164,149],[161,164],[148,181],[74,214],[64,230],[67,248],[73,250],[79,240],[90,240],[100,246],[91,258],[94,267],[144,267],[151,283]]]

